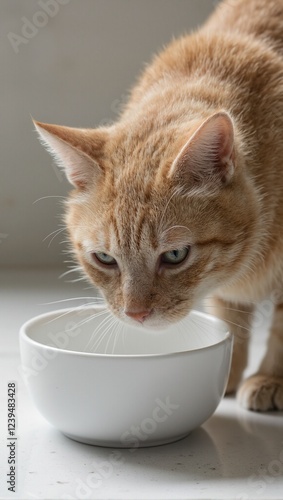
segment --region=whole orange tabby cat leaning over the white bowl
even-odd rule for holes
[[[35,126],[75,188],[70,240],[113,314],[160,328],[207,297],[234,334],[227,392],[283,410],[283,0],[219,4],[154,57],[117,123]],[[242,381],[266,298],[267,351]]]

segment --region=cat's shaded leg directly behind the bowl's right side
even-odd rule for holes
[[[207,312],[225,321],[234,337],[231,370],[226,394],[236,391],[248,361],[248,344],[253,306],[235,305],[219,297],[206,299]]]

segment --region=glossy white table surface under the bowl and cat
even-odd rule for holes
[[[0,498],[282,500],[282,413],[248,412],[225,398],[185,439],[134,452],[72,441],[41,417],[21,377],[19,327],[36,314],[74,303],[47,302],[92,295],[85,284],[58,280],[60,272],[0,272]],[[264,315],[268,320],[269,312]],[[249,373],[262,355],[265,330],[266,325],[253,335]],[[17,383],[16,493],[6,482],[9,381]]]

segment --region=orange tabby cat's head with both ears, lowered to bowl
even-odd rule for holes
[[[166,130],[35,126],[75,188],[77,259],[121,320],[178,321],[245,272],[257,208],[226,112]]]

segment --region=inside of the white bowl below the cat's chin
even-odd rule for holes
[[[163,330],[126,325],[104,306],[65,309],[38,316],[21,330],[25,340],[79,353],[156,355],[204,349],[229,336],[227,325],[192,311]]]

